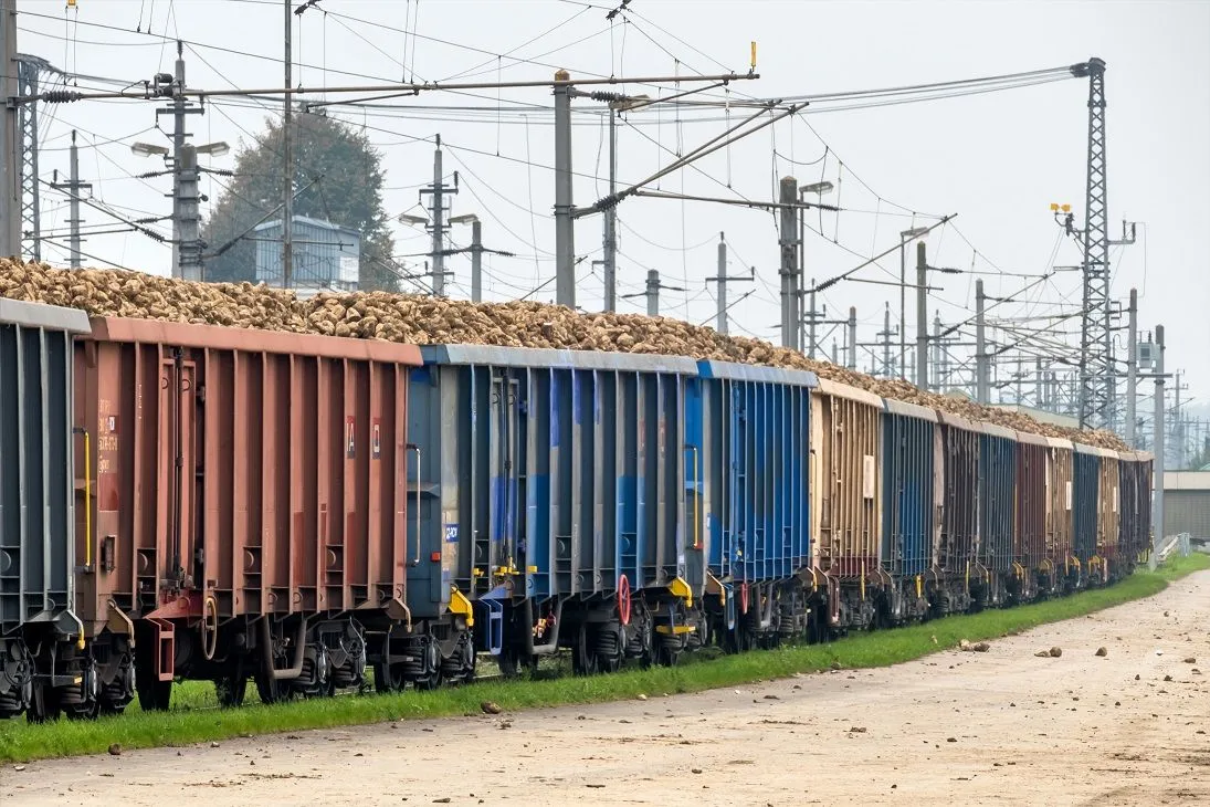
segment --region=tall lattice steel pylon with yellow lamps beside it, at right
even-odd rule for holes
[[[1079,425],[1113,428],[1117,399],[1110,322],[1110,217],[1105,155],[1105,62],[1072,67],[1088,77],[1088,190],[1084,197],[1084,309],[1079,342]]]

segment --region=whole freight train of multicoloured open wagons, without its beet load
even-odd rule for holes
[[[1129,573],[1150,496],[1146,455],[807,371],[0,300],[0,715],[1007,606]]]

